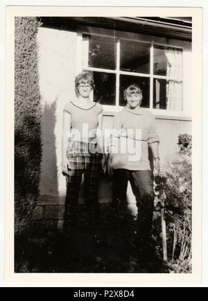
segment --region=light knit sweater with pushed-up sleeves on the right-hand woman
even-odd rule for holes
[[[112,153],[112,167],[132,171],[150,170],[148,145],[159,143],[153,113],[141,107],[124,107],[114,116],[113,130],[109,150]],[[125,151],[122,149],[124,145],[127,146]],[[116,146],[118,151],[114,153]]]

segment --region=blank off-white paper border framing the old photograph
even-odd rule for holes
[[[193,18],[193,272],[191,274],[14,273],[14,29],[17,16],[183,16]],[[194,101],[196,100],[197,101]],[[12,283],[68,286],[187,285],[202,282],[202,8],[8,6],[6,10],[6,216],[5,279]],[[128,275],[128,277],[127,277]]]

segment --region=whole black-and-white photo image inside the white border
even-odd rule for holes
[[[15,17],[15,273],[192,273],[179,15]]]

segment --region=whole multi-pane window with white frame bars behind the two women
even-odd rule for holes
[[[94,76],[94,101],[123,106],[132,83],[142,107],[182,111],[182,49],[122,37],[83,34],[83,70]]]

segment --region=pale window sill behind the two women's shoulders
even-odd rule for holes
[[[117,112],[123,110],[120,106],[103,105],[103,116],[114,117]],[[150,109],[148,109],[150,110]],[[177,121],[191,121],[191,117],[186,112],[166,111],[166,110],[150,110],[155,115],[155,119],[177,120]]]

